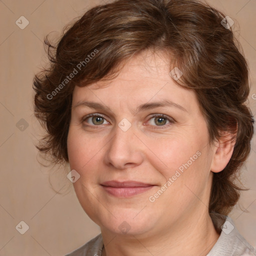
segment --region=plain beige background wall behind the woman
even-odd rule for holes
[[[54,170],[37,161],[34,143],[42,130],[32,112],[32,78],[47,61],[43,37],[51,31],[52,36],[59,36],[67,22],[100,2],[103,0],[0,0],[0,255],[64,255],[100,231],[83,212],[63,170],[56,170],[50,178],[62,194],[51,188],[48,173]],[[256,0],[208,2],[235,22],[251,70],[249,104],[254,114]],[[29,21],[24,29],[15,24],[21,15]],[[251,189],[242,192],[240,199],[248,212],[236,207],[230,216],[256,246],[255,136],[252,149],[242,170],[242,180]],[[24,234],[15,228],[21,220],[29,226]]]

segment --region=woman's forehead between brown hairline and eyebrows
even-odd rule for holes
[[[81,100],[93,100],[124,107],[165,99],[184,105],[184,108],[196,104],[194,91],[176,84],[171,78],[170,60],[163,52],[147,50],[122,64],[118,75],[110,81],[75,86],[72,105]]]

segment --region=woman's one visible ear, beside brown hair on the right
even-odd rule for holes
[[[234,145],[236,132],[222,132],[220,139],[213,146],[213,154],[210,170],[212,172],[220,172],[229,162]]]

